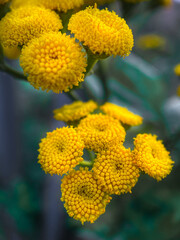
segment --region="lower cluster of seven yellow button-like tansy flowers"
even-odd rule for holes
[[[124,146],[124,124],[143,120],[124,107],[76,101],[54,114],[72,125],[41,140],[39,163],[46,173],[65,174],[61,200],[69,216],[82,224],[102,215],[112,195],[132,193],[142,172],[157,181],[171,172],[173,161],[157,136],[138,134],[134,149]]]

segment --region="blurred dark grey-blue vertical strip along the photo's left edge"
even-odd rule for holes
[[[0,72],[0,182],[4,186],[17,175],[19,167],[14,85],[10,76]]]

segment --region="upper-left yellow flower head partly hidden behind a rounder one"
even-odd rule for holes
[[[5,47],[22,46],[42,33],[61,29],[59,16],[40,7],[21,7],[7,13],[0,21],[0,42]]]

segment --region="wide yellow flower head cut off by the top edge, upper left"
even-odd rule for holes
[[[12,8],[18,8],[24,5],[34,5],[45,7],[60,12],[67,12],[70,9],[80,7],[84,0],[12,0]]]

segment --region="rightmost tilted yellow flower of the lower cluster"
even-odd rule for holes
[[[156,135],[138,134],[134,145],[134,163],[142,171],[158,181],[171,172],[173,161]]]

